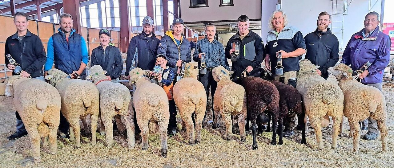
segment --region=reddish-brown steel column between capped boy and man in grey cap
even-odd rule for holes
[[[119,17],[121,22],[120,41],[121,52],[126,52],[130,43],[130,26],[128,21],[128,1],[119,0]],[[112,37],[116,38],[116,37]]]

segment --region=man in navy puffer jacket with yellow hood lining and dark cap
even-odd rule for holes
[[[157,54],[162,54],[167,58],[167,66],[171,67],[174,72],[178,72],[178,67],[182,62],[191,62],[190,42],[186,39],[183,32],[183,20],[175,18],[173,20],[173,30],[165,32],[164,37],[160,40]],[[178,72],[179,73],[179,72]],[[168,134],[176,134],[177,111],[170,112],[168,124]]]

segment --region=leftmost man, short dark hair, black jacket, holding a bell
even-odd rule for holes
[[[13,72],[12,75],[45,81],[43,77],[43,65],[46,62],[46,55],[41,39],[27,30],[29,22],[26,13],[15,13],[14,24],[17,27],[17,33],[7,38],[5,55],[10,54],[23,71],[20,74]],[[15,65],[9,63],[7,56],[5,57],[5,63],[9,70],[15,69]],[[17,130],[14,134],[7,137],[9,140],[18,139],[27,135],[27,131],[18,112],[15,112],[15,115],[17,117]]]

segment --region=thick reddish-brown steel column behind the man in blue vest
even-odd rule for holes
[[[78,0],[63,0],[63,11],[72,15],[74,21],[74,29],[76,33],[81,34],[81,19],[79,15],[79,1]],[[60,22],[60,21],[59,21]]]

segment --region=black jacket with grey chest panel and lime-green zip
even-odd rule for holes
[[[256,68],[261,64],[264,58],[264,43],[258,34],[249,30],[243,40],[241,40],[239,32],[234,34],[227,42],[226,58],[231,58],[230,49],[233,42],[238,42],[240,45],[240,57],[237,61],[232,62],[231,66],[231,70],[234,71],[233,77],[241,74],[249,65]]]

